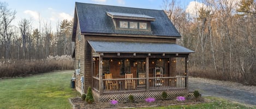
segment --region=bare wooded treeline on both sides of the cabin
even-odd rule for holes
[[[175,0],[163,8],[182,35],[178,44],[195,51],[189,56],[189,75],[256,85],[255,0],[201,0],[195,15]],[[2,60],[37,60],[72,55],[72,21],[63,20],[52,32],[49,22],[33,28],[23,19],[11,25],[16,12],[0,2],[0,56]]]

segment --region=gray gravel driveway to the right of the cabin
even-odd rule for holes
[[[256,106],[256,86],[190,77],[188,87],[189,91],[198,90],[202,96],[221,97]]]

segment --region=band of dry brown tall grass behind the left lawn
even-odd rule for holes
[[[27,76],[53,70],[74,69],[71,56],[49,56],[43,60],[2,60],[0,61],[0,78]]]

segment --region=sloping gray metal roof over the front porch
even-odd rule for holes
[[[168,53],[189,54],[194,51],[175,43],[88,41],[96,53]]]

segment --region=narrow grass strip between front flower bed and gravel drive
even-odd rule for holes
[[[177,106],[162,106],[157,107],[158,109],[171,109],[171,108],[182,108],[182,109],[205,109],[205,108],[256,108],[256,106],[246,106],[245,104],[239,104],[235,103],[229,100],[225,100],[222,98],[216,98],[216,97],[205,97],[206,99],[209,99],[210,102],[203,103],[203,104],[193,104],[193,105],[177,105]],[[156,107],[146,107],[144,109],[153,109]]]

